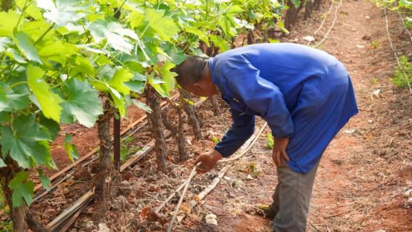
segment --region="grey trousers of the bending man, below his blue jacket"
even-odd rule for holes
[[[319,159],[320,161],[320,159]],[[273,231],[305,231],[317,164],[306,174],[290,169],[286,160],[277,168],[278,184],[271,205],[276,216]]]

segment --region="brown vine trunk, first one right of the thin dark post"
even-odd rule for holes
[[[166,144],[159,98],[156,96],[156,90],[150,85],[146,87],[145,96],[146,102],[152,109],[151,113],[146,114],[152,129],[152,136],[155,138],[157,171],[166,173]]]

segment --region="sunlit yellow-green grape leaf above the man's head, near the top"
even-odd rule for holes
[[[170,41],[179,32],[179,27],[174,23],[173,18],[164,16],[164,10],[148,9],[146,18],[150,27],[156,31],[162,40]]]

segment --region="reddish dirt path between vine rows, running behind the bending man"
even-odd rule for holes
[[[326,12],[328,3],[323,8]],[[321,14],[300,23],[290,38],[306,44],[301,38],[317,29]],[[405,196],[412,188],[412,95],[389,83],[396,60],[382,10],[369,2],[343,1],[337,16],[319,49],[347,66],[361,113],[323,155],[307,230],[412,231],[412,207]],[[317,41],[333,19],[334,10]],[[396,49],[411,56],[412,44],[401,25],[398,15],[389,12]],[[375,90],[380,92],[373,94]],[[196,213],[183,222],[184,231],[271,231],[270,221],[251,213],[254,203],[271,202],[277,183],[265,137],[255,144],[251,158],[237,162]],[[203,218],[210,213],[218,216],[218,226],[205,223]]]

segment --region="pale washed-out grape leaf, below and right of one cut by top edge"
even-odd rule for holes
[[[130,43],[130,39],[137,40],[137,34],[135,31],[123,28],[121,24],[117,22],[95,21],[89,25],[91,36],[95,42],[101,42],[107,39],[107,42],[113,49],[130,54],[133,45]]]

